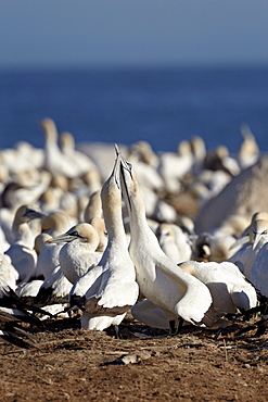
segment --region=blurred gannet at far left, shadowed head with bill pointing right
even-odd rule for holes
[[[34,250],[34,235],[28,226],[28,222],[36,218],[42,218],[44,215],[27,205],[17,209],[12,230],[14,242],[5,251],[11,259],[12,264],[20,274],[20,280],[27,281],[33,275],[37,262],[37,255]]]

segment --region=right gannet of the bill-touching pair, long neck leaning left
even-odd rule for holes
[[[173,332],[178,327],[178,317],[195,325],[201,323],[212,304],[208,288],[178,268],[161,249],[157,238],[146,223],[136,172],[123,158],[120,179],[130,216],[129,252],[141,292],[165,311]]]

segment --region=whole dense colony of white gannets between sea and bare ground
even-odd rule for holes
[[[235,156],[224,146],[207,151],[201,137],[176,152],[145,141],[82,152],[51,118],[41,127],[43,149],[22,141],[0,151],[2,337],[10,316],[74,309],[89,330],[117,328],[127,312],[173,335],[183,321],[221,328],[268,298],[268,213],[232,215],[209,233],[194,226],[258,161],[248,127]]]

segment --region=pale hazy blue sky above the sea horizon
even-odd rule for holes
[[[0,0],[0,67],[268,64],[268,0]]]

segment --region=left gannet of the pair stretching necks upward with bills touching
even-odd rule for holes
[[[107,247],[100,263],[82,277],[91,278],[91,285],[84,298],[81,327],[93,330],[119,325],[139,293],[122,218],[119,166],[120,155],[117,155],[113,173],[101,191]]]

